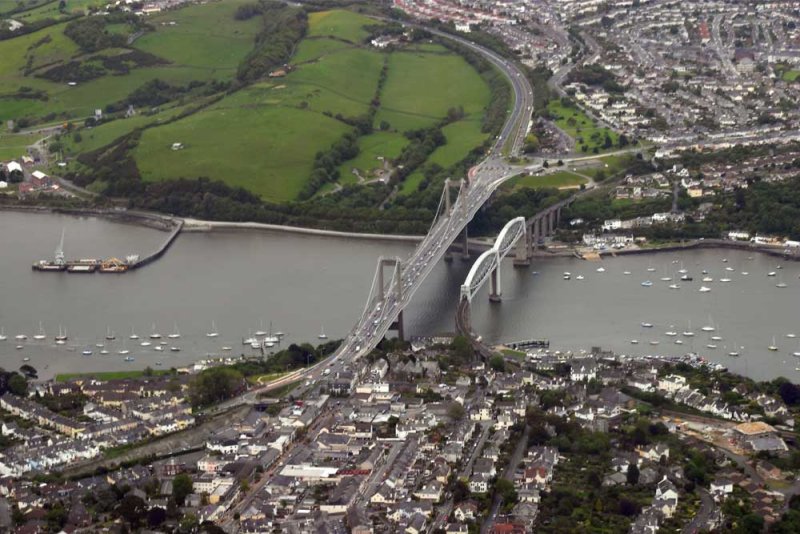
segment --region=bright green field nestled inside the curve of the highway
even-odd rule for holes
[[[480,117],[488,100],[488,87],[460,56],[397,52],[389,59],[376,119],[404,132],[433,125],[454,106],[463,106],[469,118]]]

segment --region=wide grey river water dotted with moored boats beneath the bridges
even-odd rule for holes
[[[226,354],[221,350],[225,346],[232,348],[227,354],[249,354],[253,351],[242,339],[270,327],[286,333],[284,346],[316,343],[323,327],[329,338],[342,337],[362,311],[377,258],[402,258],[413,247],[279,232],[184,233],[162,259],[143,269],[123,275],[77,275],[30,269],[32,261],[52,257],[62,228],[68,258],[144,254],[166,234],[93,217],[16,212],[0,212],[0,228],[0,328],[9,337],[0,342],[0,366],[16,369],[29,358],[42,376],[159,362],[163,367],[181,366],[208,354]],[[670,282],[660,278],[672,276],[681,262],[694,281],[668,289]],[[605,272],[597,271],[601,266]],[[433,270],[406,311],[408,334],[452,330],[459,286],[468,269],[469,263],[456,259]],[[701,269],[709,271],[713,283],[700,281]],[[563,280],[564,271],[572,273],[571,280]],[[771,271],[777,276],[768,277]],[[506,262],[501,273],[503,302],[489,303],[484,288],[473,303],[473,326],[489,343],[542,337],[553,348],[571,350],[595,345],[626,354],[680,355],[693,350],[753,378],[796,378],[800,358],[792,352],[800,351],[800,337],[786,334],[800,336],[798,273],[798,264],[738,251],[602,262],[548,259],[526,269]],[[577,280],[578,275],[584,279]],[[731,282],[719,282],[725,277]],[[652,287],[641,285],[646,279]],[[775,287],[781,281],[788,287]],[[712,290],[700,293],[701,285]],[[206,336],[212,321],[217,338]],[[46,341],[32,339],[40,322]],[[653,327],[643,328],[642,322]],[[717,329],[713,334],[701,330],[711,323]],[[63,346],[54,344],[59,327],[69,334]],[[181,337],[167,339],[176,327]],[[163,352],[140,346],[154,329],[167,342]],[[683,337],[689,329],[696,335]],[[109,330],[116,334],[113,342],[105,340]],[[132,330],[142,339],[129,339]],[[679,335],[666,336],[670,330]],[[28,340],[15,341],[18,334]],[[723,340],[711,342],[710,335]],[[773,336],[777,352],[767,350]],[[631,339],[639,344],[632,345]],[[684,343],[676,345],[675,339]],[[98,343],[108,355],[99,353]],[[708,343],[718,348],[707,349]],[[23,348],[17,349],[18,344]],[[170,352],[169,346],[181,351]],[[733,347],[740,357],[727,356]],[[82,355],[87,348],[91,356]],[[135,361],[125,361],[120,350],[129,350]]]

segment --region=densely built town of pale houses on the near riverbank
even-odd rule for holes
[[[233,368],[241,365],[258,363]],[[784,513],[800,492],[800,388],[785,380],[755,383],[696,356],[600,348],[498,346],[485,361],[467,338],[440,337],[387,342],[317,383],[257,397],[236,383],[223,404],[237,417],[213,423],[213,404],[191,390],[227,369],[31,379],[24,391],[13,381],[0,397],[0,524],[521,533],[590,517],[630,532],[796,526]],[[198,424],[212,426],[198,438]],[[160,440],[160,454],[144,448]]]

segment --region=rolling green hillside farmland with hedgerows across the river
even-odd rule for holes
[[[68,1],[66,11],[93,1]],[[253,53],[273,20],[258,13],[235,16],[248,3],[193,4],[137,20],[98,17],[94,20],[114,43],[99,50],[65,34],[73,35],[85,18],[0,41],[0,120],[13,119],[22,127],[70,122],[59,149],[67,171],[82,174],[82,183],[94,191],[102,192],[114,175],[91,183],[93,160],[78,163],[78,156],[136,131],[135,141],[125,146],[134,179],[207,177],[275,203],[391,178],[393,160],[413,148],[408,132],[441,128],[446,142],[428,150],[427,160],[415,163],[417,172],[396,185],[400,194],[412,193],[422,171],[460,162],[489,137],[483,121],[490,89],[463,57],[429,41],[375,48],[369,40],[380,23],[351,11],[308,13],[305,35],[292,43],[287,65],[284,58],[256,77],[243,76],[243,65],[253,65],[247,61],[259,61]],[[27,13],[57,18],[53,10],[56,2]],[[89,22],[81,31],[92,26]],[[144,62],[120,68],[116,58],[131,54]],[[111,70],[115,64],[119,70]],[[64,74],[54,76],[53,68]],[[150,89],[154,80],[160,89]],[[103,111],[98,124],[91,119],[96,110]],[[124,118],[126,110],[135,114]],[[346,135],[355,135],[355,150],[336,159],[330,175],[309,193],[310,180],[319,173],[318,154]],[[29,142],[23,136],[0,138],[0,155],[16,155]],[[181,149],[173,150],[176,143]]]

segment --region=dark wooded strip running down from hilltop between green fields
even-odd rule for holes
[[[308,30],[308,15],[301,9],[266,0],[259,6],[264,25],[256,35],[255,47],[236,72],[236,78],[243,83],[257,81],[289,61],[295,45]]]

